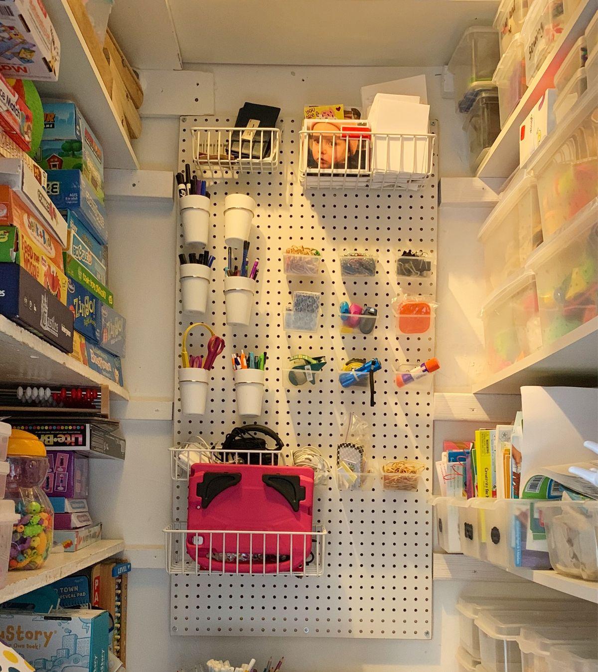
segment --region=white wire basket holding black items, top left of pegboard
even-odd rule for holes
[[[279,128],[192,128],[193,162],[211,177],[264,173],[279,164]]]

